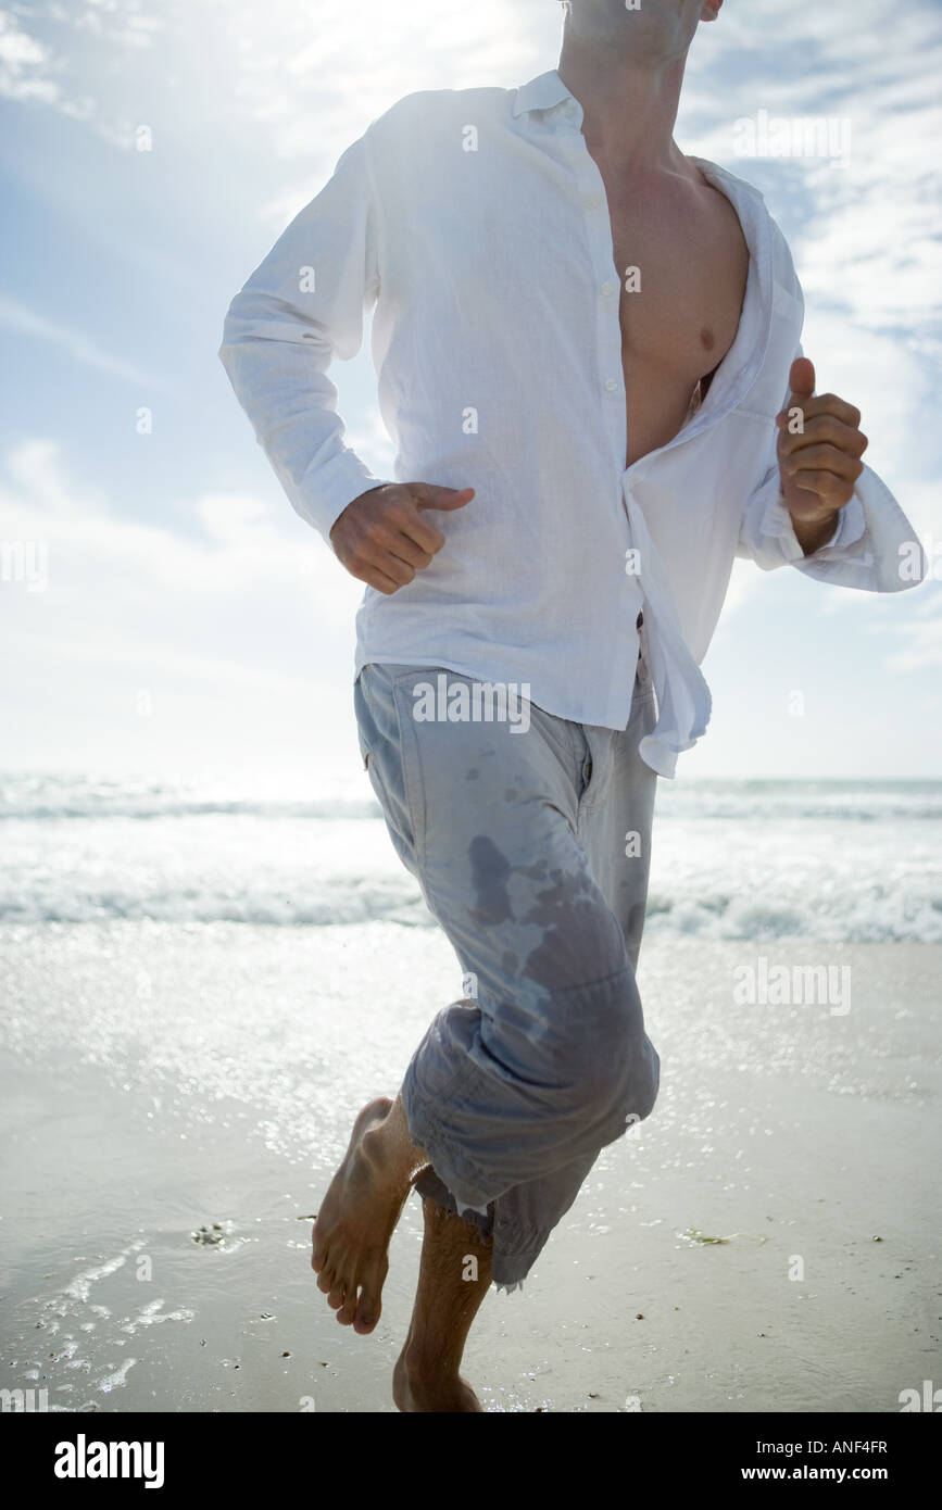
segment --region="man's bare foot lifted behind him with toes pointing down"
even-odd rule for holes
[[[417,1152],[402,1102],[370,1101],[317,1213],[311,1255],[317,1288],[337,1320],[364,1336],[379,1321],[386,1250],[421,1164]]]

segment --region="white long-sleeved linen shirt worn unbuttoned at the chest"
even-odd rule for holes
[[[474,488],[430,512],[432,565],[367,587],[355,673],[435,664],[577,723],[623,729],[639,657],[657,692],[642,758],[673,776],[706,729],[706,654],[735,556],[898,592],[915,533],[865,468],[806,557],[782,498],[774,415],[803,297],[762,195],[699,157],[750,252],[735,341],[681,432],[625,467],[620,273],[583,109],[556,69],[521,89],[426,91],[349,146],[229,305],[219,356],[291,504],[329,542],[380,482]],[[394,477],[344,444],[337,356],[373,361]],[[909,547],[912,553],[912,545]]]

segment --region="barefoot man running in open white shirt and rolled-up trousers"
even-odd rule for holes
[[[706,728],[734,557],[909,586],[912,527],[860,461],[857,409],[814,396],[762,196],[673,142],[720,6],[566,0],[557,69],[400,100],[226,319],[220,358],[291,503],[367,584],[361,752],[465,972],[314,1228],[319,1288],[368,1333],[423,1196],[400,1410],[480,1410],[459,1368],[491,1280],[521,1285],[654,1105],[654,788]],[[396,482],[343,444],[326,378],[364,305]]]

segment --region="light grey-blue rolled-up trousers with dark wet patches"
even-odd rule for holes
[[[655,773],[639,661],[628,728],[528,708],[510,722],[415,717],[438,666],[368,664],[355,687],[364,763],[392,843],[471,982],[433,1019],[402,1087],[432,1169],[417,1182],[494,1243],[516,1288],[599,1151],[648,1116],[658,1055],[636,966]]]

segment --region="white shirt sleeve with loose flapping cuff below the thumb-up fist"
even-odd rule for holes
[[[802,355],[799,346],[796,356]],[[782,406],[788,397],[787,390]],[[773,427],[765,476],[743,510],[737,556],[762,571],[790,565],[818,581],[865,592],[903,592],[922,581],[927,566],[919,538],[886,483],[867,465],[830,541],[805,556],[782,494],[776,441]]]

